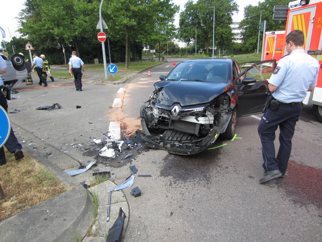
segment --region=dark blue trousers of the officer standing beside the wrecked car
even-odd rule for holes
[[[260,124],[258,134],[262,142],[263,168],[265,170],[279,169],[285,174],[292,149],[292,138],[295,124],[302,111],[302,104],[296,106],[279,106],[275,111],[267,108]],[[275,157],[275,131],[280,127],[280,148]]]

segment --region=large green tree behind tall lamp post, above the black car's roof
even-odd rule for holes
[[[189,0],[185,10],[180,13],[179,37],[189,43],[195,39],[197,31],[197,49],[209,52],[213,42],[215,7],[215,49],[228,49],[233,41],[231,24],[238,5],[232,0],[198,0],[195,4]]]

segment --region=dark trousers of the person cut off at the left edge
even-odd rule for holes
[[[6,112],[8,113],[8,102],[6,97],[0,93],[0,105],[5,108]],[[5,143],[6,148],[9,150],[10,153],[13,153],[16,149],[21,149],[22,145],[18,142],[16,136],[13,133],[11,128],[10,135],[8,140]],[[6,156],[5,156],[5,149],[4,147],[0,148],[0,165],[6,164]]]

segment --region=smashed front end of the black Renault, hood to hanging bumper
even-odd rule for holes
[[[143,130],[136,131],[147,146],[193,155],[225,132],[233,112],[229,84],[166,81],[154,87],[150,99],[141,106]]]

